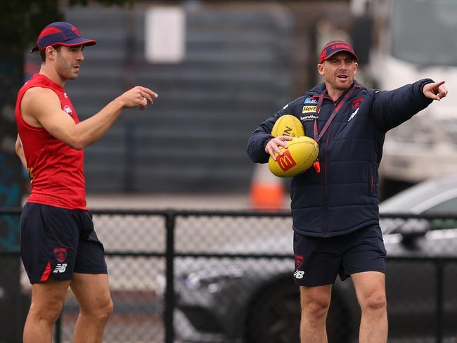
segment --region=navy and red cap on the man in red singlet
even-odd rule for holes
[[[46,46],[65,45],[75,46],[84,44],[86,46],[94,45],[97,41],[81,37],[78,29],[69,22],[52,22],[39,34],[37,46],[30,50],[30,53],[41,51]]]

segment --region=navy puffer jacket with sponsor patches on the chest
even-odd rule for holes
[[[385,133],[410,119],[432,100],[425,98],[422,79],[394,91],[355,89],[337,112],[319,144],[321,172],[310,168],[292,178],[293,229],[302,235],[331,237],[379,223],[378,167]],[[247,153],[252,161],[268,162],[265,145],[273,138],[271,129],[281,115],[299,118],[305,134],[314,138],[316,104],[325,84],[320,84],[282,110],[252,133]],[[340,97],[341,99],[342,97]],[[338,102],[325,96],[317,117],[318,132]]]

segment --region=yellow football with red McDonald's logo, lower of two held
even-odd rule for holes
[[[301,174],[313,165],[319,154],[319,147],[313,138],[307,136],[294,137],[288,143],[288,148],[280,147],[283,155],[275,153],[276,161],[270,156],[268,167],[279,177],[291,177]]]

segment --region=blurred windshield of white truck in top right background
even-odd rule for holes
[[[395,0],[392,56],[417,65],[457,65],[457,1]]]

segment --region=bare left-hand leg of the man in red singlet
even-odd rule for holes
[[[24,343],[51,343],[54,324],[62,311],[67,295],[68,281],[50,278],[45,283],[32,285],[32,304],[25,321]]]

